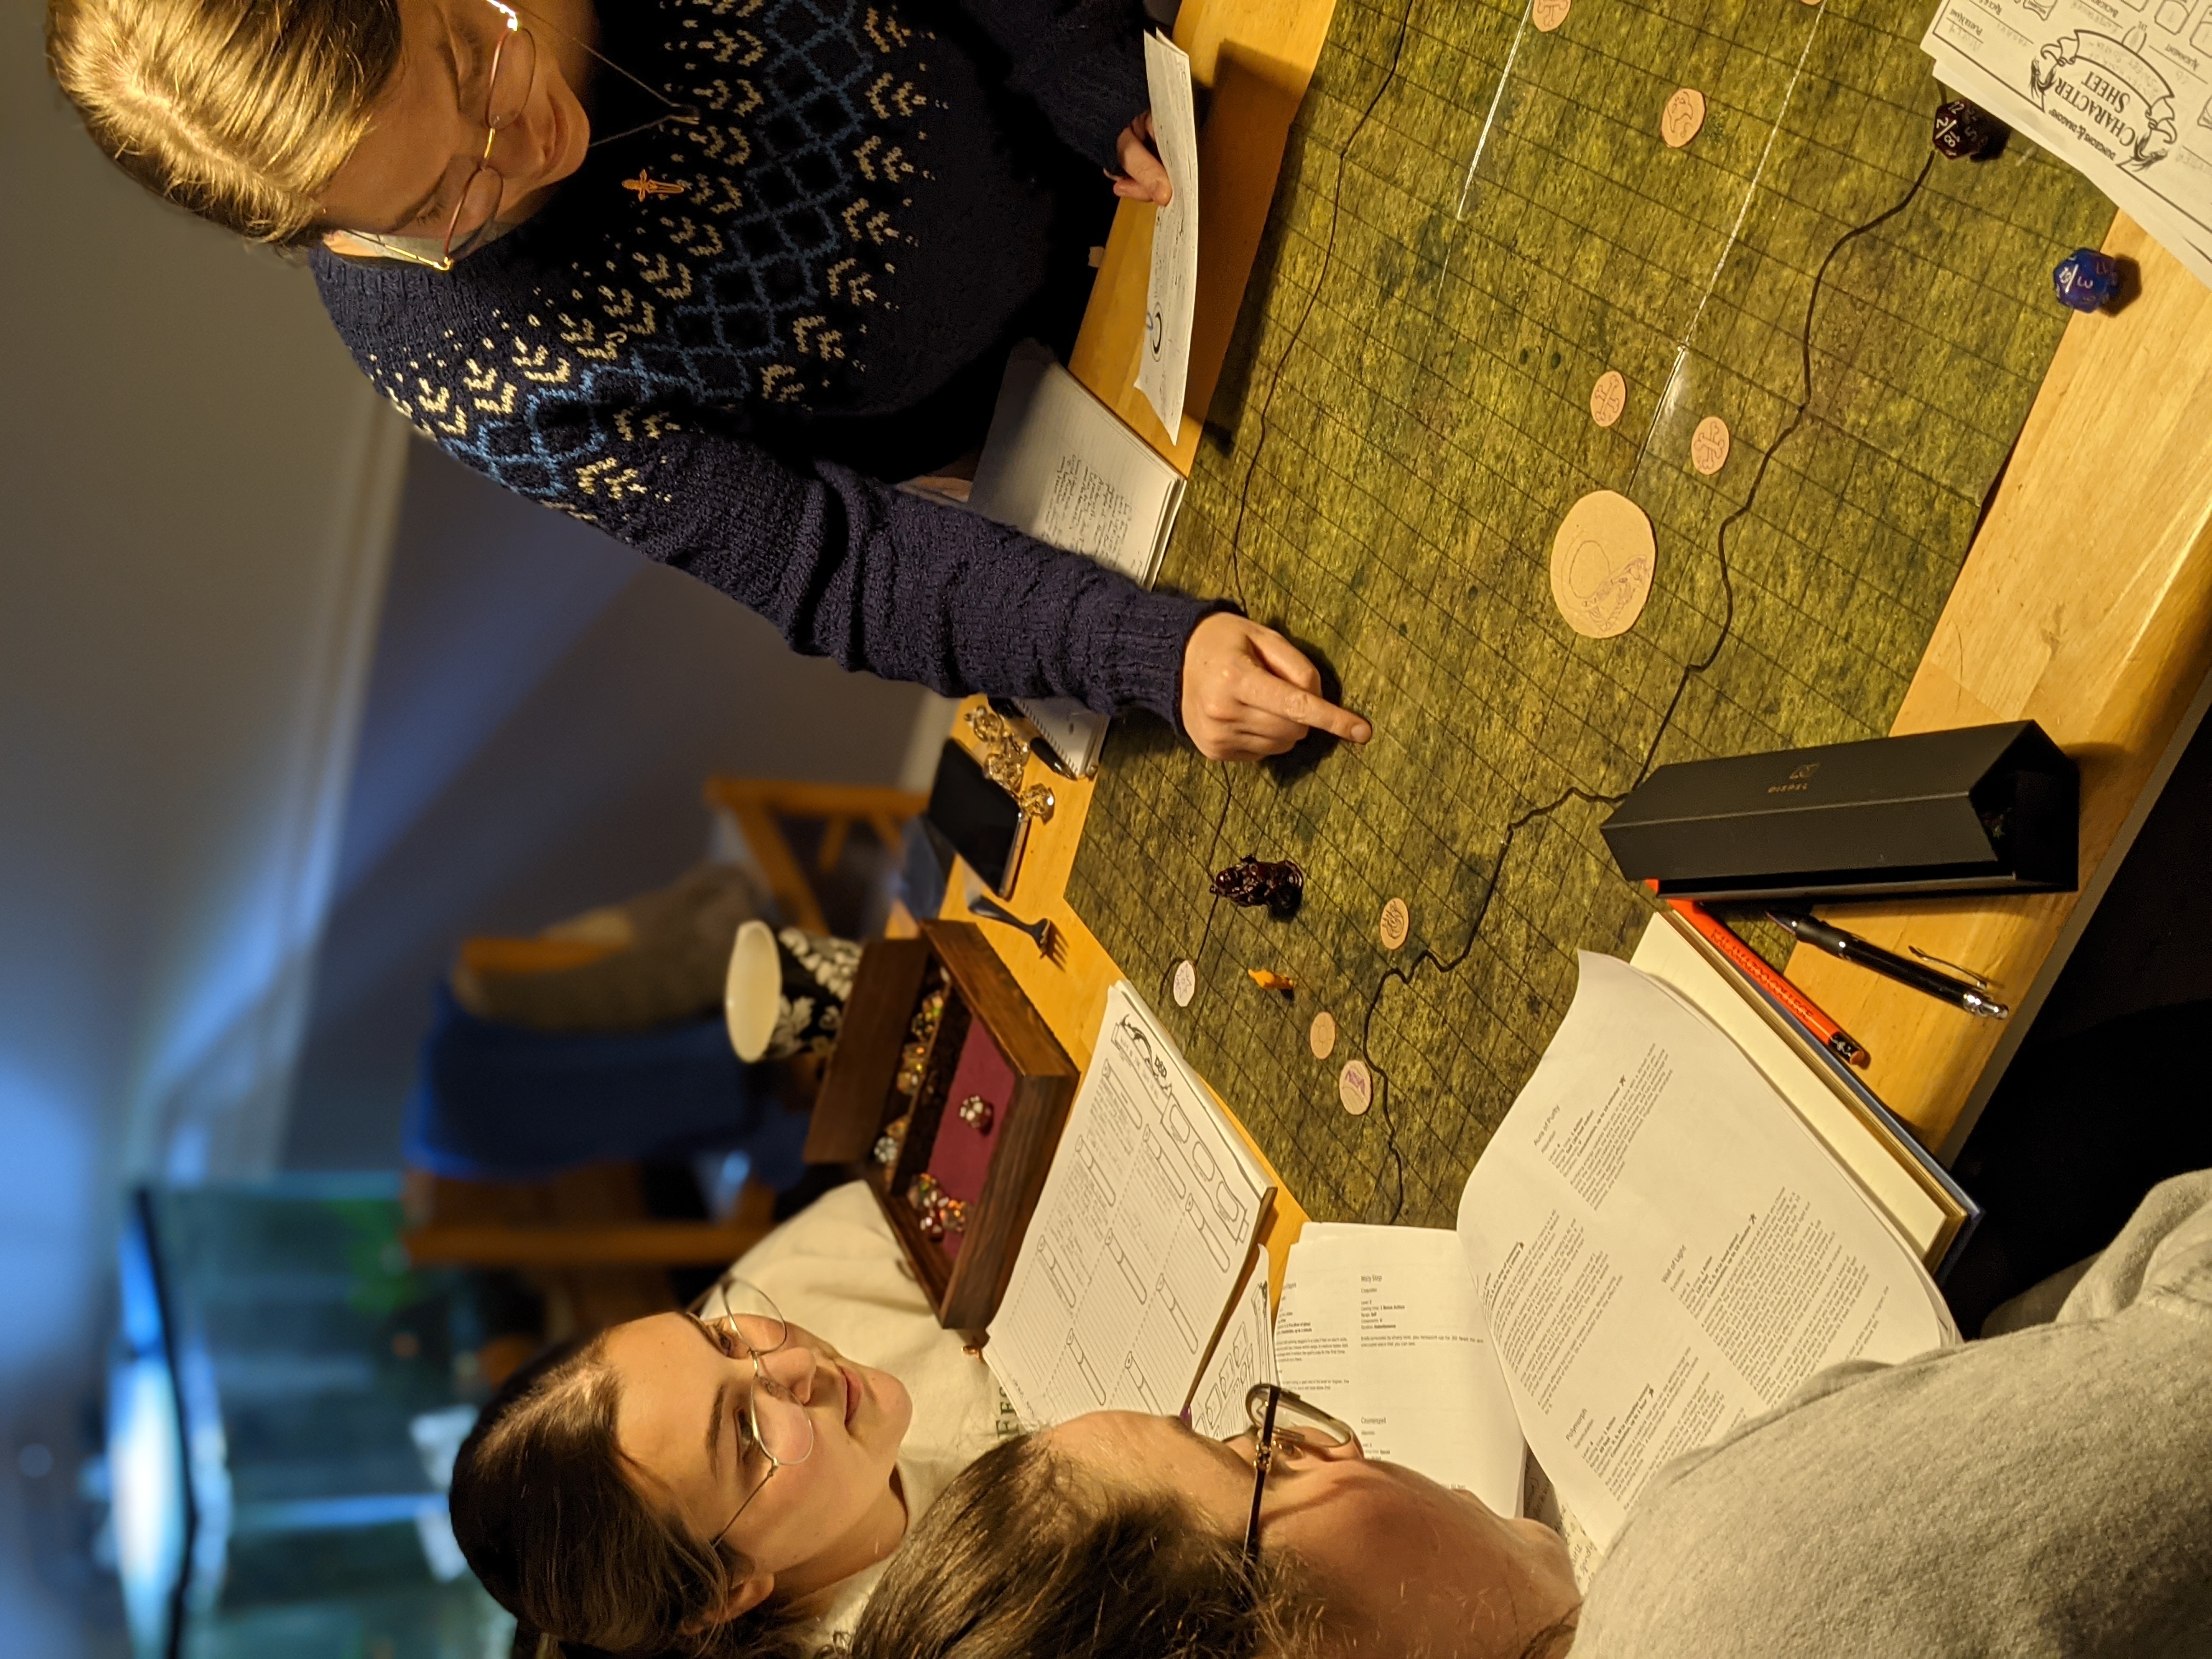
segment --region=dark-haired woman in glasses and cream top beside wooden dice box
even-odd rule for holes
[[[812,1655],[852,1630],[909,1524],[1013,1431],[902,1267],[854,1181],[686,1314],[507,1380],[453,1462],[451,1513],[533,1659]]]

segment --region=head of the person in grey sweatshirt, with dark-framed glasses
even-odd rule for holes
[[[978,1458],[900,1551],[852,1659],[1553,1659],[1559,1533],[1363,1453],[1272,1385],[1250,1429],[1097,1411]]]

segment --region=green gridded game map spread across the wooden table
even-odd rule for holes
[[[1708,113],[1672,150],[1677,86]],[[1292,635],[1376,739],[1237,770],[1121,728],[1068,887],[1316,1217],[1449,1223],[1575,951],[1648,916],[1610,799],[1887,730],[2064,327],[2048,270],[2112,212],[2020,142],[1931,164],[1936,102],[1874,0],[1575,0],[1553,33],[1340,0],[1164,580]],[[1712,478],[1708,414],[1734,434]],[[1593,489],[1659,544],[1615,639],[1548,588]],[[1294,920],[1210,898],[1248,852],[1305,867]],[[1365,1117],[1336,1104],[1347,1057],[1378,1077]]]

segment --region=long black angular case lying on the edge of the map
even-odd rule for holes
[[[1661,765],[1601,834],[1668,898],[2073,891],[2081,776],[2035,721]]]

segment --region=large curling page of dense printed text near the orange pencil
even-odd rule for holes
[[[1705,1018],[1610,956],[1460,1194],[1522,1433],[1599,1546],[1652,1469],[1958,1340],[1918,1254]]]

